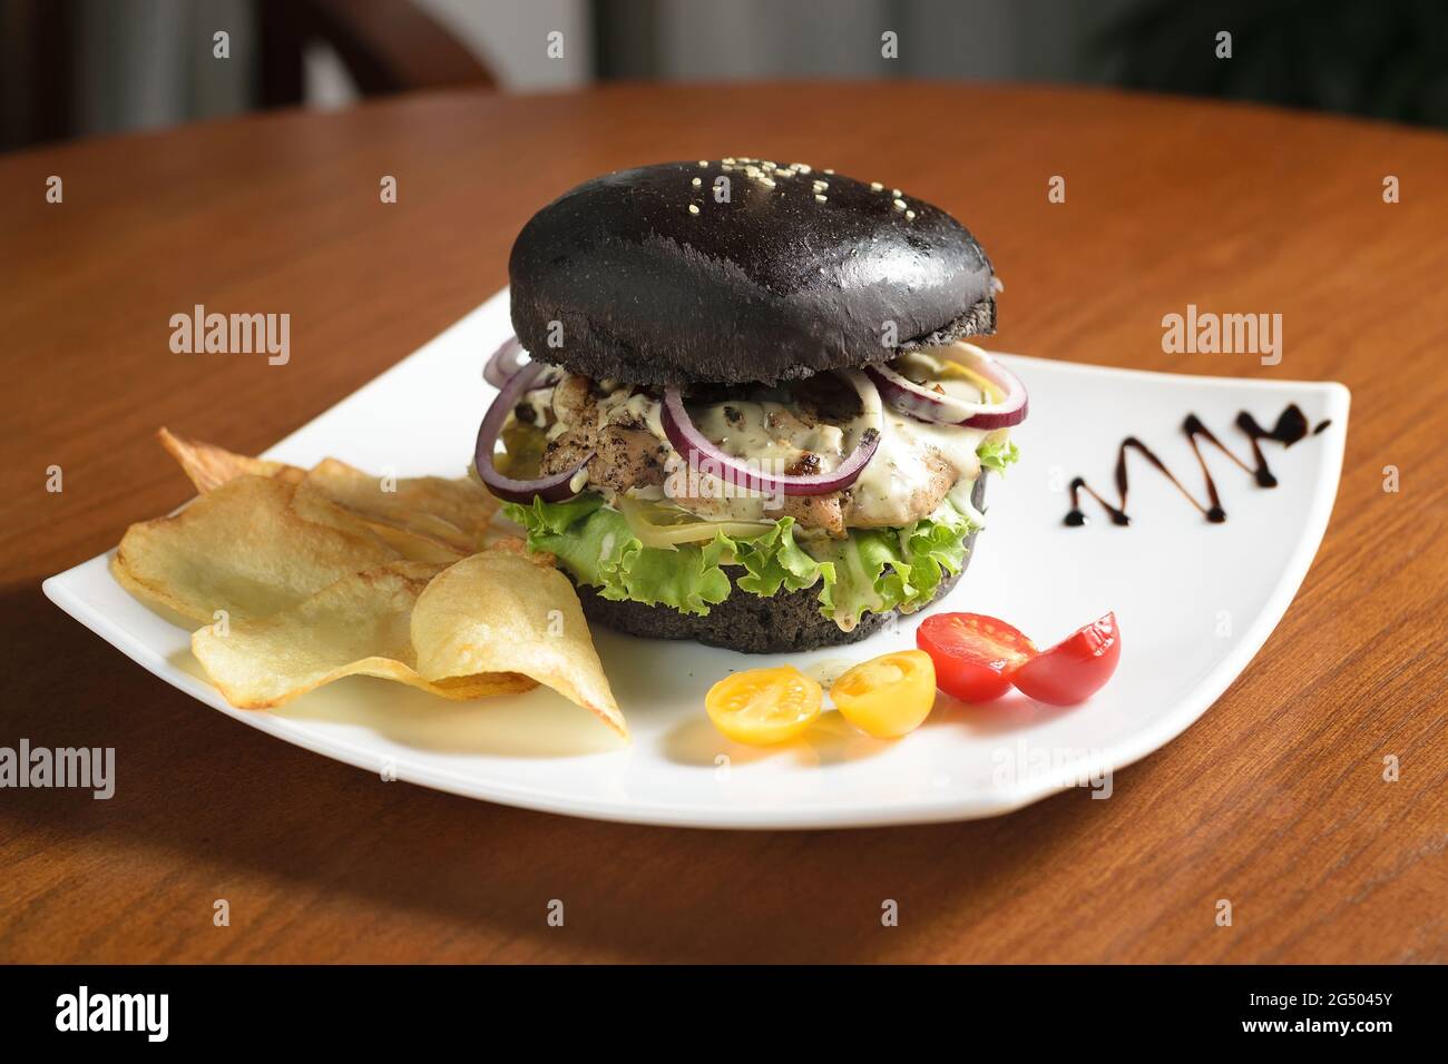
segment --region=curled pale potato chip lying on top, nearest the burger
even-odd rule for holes
[[[429,680],[523,673],[628,734],[578,592],[536,560],[488,550],[443,569],[413,609],[413,646]]]

